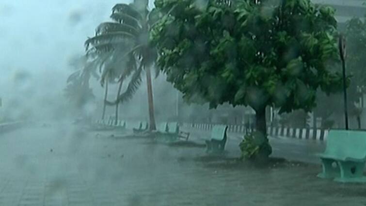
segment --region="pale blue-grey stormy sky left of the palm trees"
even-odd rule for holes
[[[114,4],[131,1],[0,0],[0,97],[38,91],[26,99],[37,104],[62,95],[68,59],[83,54],[84,41],[109,20]]]

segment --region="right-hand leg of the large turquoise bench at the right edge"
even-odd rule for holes
[[[337,182],[366,182],[363,177],[365,162],[338,161],[340,167],[340,177]]]

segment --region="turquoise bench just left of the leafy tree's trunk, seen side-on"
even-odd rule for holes
[[[211,130],[210,140],[206,140],[207,153],[223,153],[227,140],[227,126],[216,125]]]

